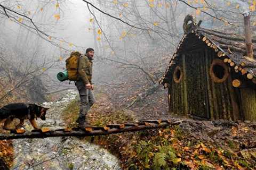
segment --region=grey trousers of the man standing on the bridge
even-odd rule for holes
[[[83,124],[88,122],[86,120],[86,114],[95,103],[95,98],[93,95],[93,90],[86,89],[85,84],[82,80],[78,80],[76,82],[76,87],[80,96],[80,111],[77,118],[77,123]]]

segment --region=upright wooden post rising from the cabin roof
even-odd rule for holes
[[[252,49],[252,30],[251,30],[251,21],[250,13],[244,13],[244,35],[245,35],[245,44],[247,56],[253,58],[253,49]]]

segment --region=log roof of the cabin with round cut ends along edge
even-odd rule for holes
[[[199,22],[199,24],[202,21]],[[196,19],[192,15],[187,15],[184,23],[184,35],[180,43],[171,57],[171,61],[167,66],[165,73],[159,80],[159,83],[164,84],[169,75],[169,71],[175,65],[175,60],[184,50],[185,44],[191,39],[198,38],[206,46],[212,48],[220,60],[227,63],[236,73],[242,74],[249,80],[256,83],[256,60],[246,56],[245,38],[241,35],[229,32],[220,32],[210,29],[205,29],[197,24]],[[198,42],[198,41],[195,41]],[[256,57],[256,39],[252,39],[253,55]]]

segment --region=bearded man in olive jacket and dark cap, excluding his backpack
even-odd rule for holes
[[[85,127],[86,125],[90,125],[86,118],[86,114],[95,103],[95,98],[92,91],[94,89],[92,84],[93,56],[94,49],[87,48],[86,54],[81,56],[79,59],[78,80],[76,81],[76,87],[80,96],[80,111],[76,122],[81,128]]]

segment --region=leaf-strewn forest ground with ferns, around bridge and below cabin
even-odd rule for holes
[[[158,101],[147,99],[145,103],[124,110],[108,94],[102,89],[95,90],[97,103],[88,115],[91,125],[175,116],[167,112],[166,106],[159,105],[162,99],[157,95],[150,97]],[[167,105],[166,100],[163,105]],[[74,100],[62,118],[70,126],[76,126],[77,113],[78,100]],[[166,129],[87,137],[85,140],[93,141],[118,156],[123,169],[256,168],[256,123],[196,121],[179,116],[174,119],[179,125]]]

